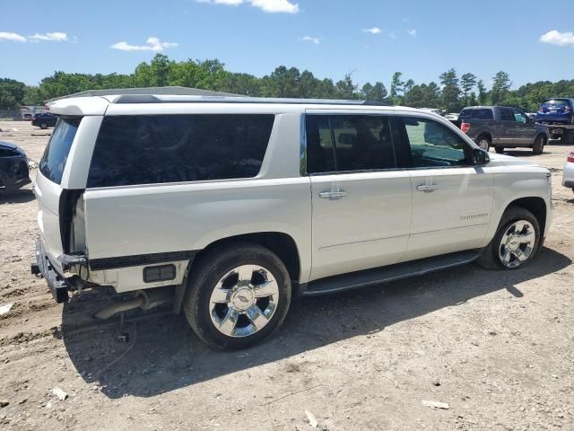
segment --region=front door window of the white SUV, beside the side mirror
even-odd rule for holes
[[[455,132],[432,119],[403,117],[410,160],[404,168],[467,166],[472,148]]]

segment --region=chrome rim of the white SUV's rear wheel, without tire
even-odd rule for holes
[[[229,337],[248,337],[271,320],[279,301],[279,286],[268,269],[241,265],[225,274],[213,289],[213,325]]]

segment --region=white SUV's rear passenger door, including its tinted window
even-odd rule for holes
[[[396,169],[389,119],[306,116],[313,208],[311,280],[400,261],[411,225],[409,173]]]

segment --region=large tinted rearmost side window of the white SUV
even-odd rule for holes
[[[274,115],[138,115],[103,119],[87,187],[257,176]]]

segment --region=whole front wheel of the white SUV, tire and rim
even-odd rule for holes
[[[535,257],[540,235],[540,224],[530,211],[523,207],[509,207],[477,263],[486,269],[524,267]]]

